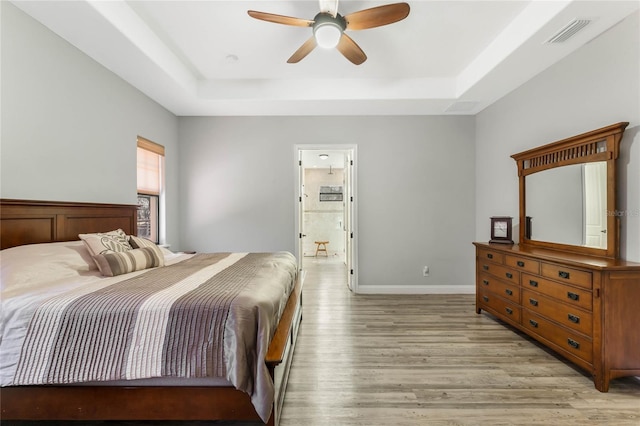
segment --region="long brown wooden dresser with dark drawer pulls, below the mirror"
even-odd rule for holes
[[[640,264],[518,245],[476,246],[476,312],[521,330],[593,375],[640,375]]]

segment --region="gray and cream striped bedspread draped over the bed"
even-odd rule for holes
[[[34,311],[14,385],[223,377],[267,420],[264,358],[296,277],[290,253],[197,254]]]

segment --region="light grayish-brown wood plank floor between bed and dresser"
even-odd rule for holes
[[[600,393],[582,371],[477,315],[472,295],[353,295],[335,258],[305,268],[281,426],[640,425],[640,379]]]

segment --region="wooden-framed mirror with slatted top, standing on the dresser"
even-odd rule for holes
[[[619,256],[616,160],[628,123],[512,155],[520,184],[520,244]]]

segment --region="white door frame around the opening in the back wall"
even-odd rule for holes
[[[295,185],[296,188],[296,202],[295,202],[295,252],[298,257],[298,262],[302,265],[303,244],[302,241],[302,192],[303,185],[303,167],[300,164],[303,151],[344,151],[345,157],[349,159],[350,164],[348,168],[345,168],[345,174],[349,173],[349,177],[345,176],[345,181],[349,185],[349,188],[345,188],[345,214],[350,214],[351,223],[349,224],[350,230],[347,230],[349,237],[351,237],[351,244],[345,246],[345,261],[347,265],[350,265],[350,271],[347,271],[347,282],[349,289],[354,293],[358,292],[358,196],[357,196],[357,145],[355,144],[314,144],[314,145],[295,145]],[[347,210],[350,210],[347,213]]]

